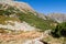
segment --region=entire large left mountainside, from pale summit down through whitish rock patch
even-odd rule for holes
[[[54,28],[56,23],[48,16],[37,13],[28,3],[11,0],[0,1],[0,26],[10,30],[44,31]]]

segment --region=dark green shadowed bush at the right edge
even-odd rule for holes
[[[53,36],[65,36],[66,37],[66,22],[58,24],[53,31]]]

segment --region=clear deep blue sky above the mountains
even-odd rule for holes
[[[29,3],[40,13],[66,13],[66,0],[16,0]]]

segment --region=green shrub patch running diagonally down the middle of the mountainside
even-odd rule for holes
[[[31,12],[28,12],[26,14],[21,12],[21,13],[18,13],[18,15],[19,15],[20,20],[25,21],[29,24],[31,24],[31,25],[33,25],[33,26],[35,26],[37,29],[41,29],[42,31],[50,30],[50,29],[54,28],[54,25],[51,25],[51,24],[54,23],[53,21],[43,20],[43,19],[34,15]]]

